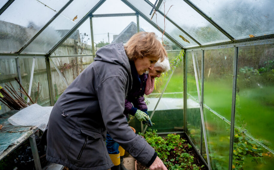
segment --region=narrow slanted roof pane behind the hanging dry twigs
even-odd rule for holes
[[[148,19],[151,19],[152,15],[150,16],[149,13],[152,7],[146,3],[145,1],[134,1],[128,0],[130,4],[140,10]],[[153,16],[152,22],[155,24],[158,23],[158,26],[164,30],[164,24],[166,25],[165,32],[169,34],[172,38],[174,38],[178,43],[180,43],[183,47],[196,47],[196,44],[192,39],[190,39],[187,35],[181,32],[177,27],[175,27],[172,23],[170,23],[167,19],[164,20],[164,17],[157,13],[157,23],[156,23],[156,15]],[[181,38],[181,37],[183,38]]]

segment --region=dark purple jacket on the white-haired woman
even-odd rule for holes
[[[142,110],[143,112],[147,111],[147,106],[144,101],[147,75],[144,73],[143,75],[139,76],[134,62],[130,61],[129,63],[131,67],[132,88],[130,91],[128,91],[127,97],[125,99],[124,115],[127,116],[128,114],[131,114],[134,116],[137,109]]]

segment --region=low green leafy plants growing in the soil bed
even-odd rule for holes
[[[195,155],[195,150],[187,143],[187,140],[176,134],[160,137],[156,132],[157,130],[148,129],[145,134],[139,132],[139,135],[143,136],[155,149],[167,169],[206,169],[205,165],[202,164],[202,160],[198,160],[198,155]],[[137,169],[148,168],[138,163]]]

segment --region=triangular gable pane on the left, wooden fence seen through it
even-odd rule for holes
[[[90,20],[87,19],[51,56],[92,54]]]

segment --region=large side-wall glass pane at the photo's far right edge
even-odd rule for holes
[[[274,44],[239,47],[235,126],[274,149]]]

